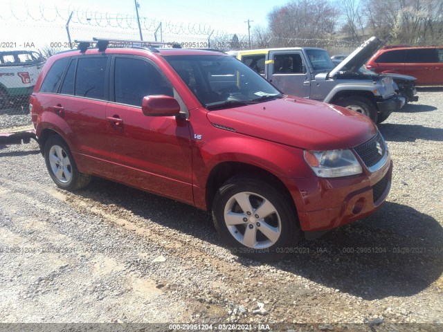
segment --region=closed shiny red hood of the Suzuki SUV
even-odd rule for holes
[[[290,96],[207,116],[218,128],[314,151],[355,147],[377,133],[370,118],[359,113]]]

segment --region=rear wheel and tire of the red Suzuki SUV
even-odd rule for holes
[[[44,160],[49,176],[64,190],[80,189],[91,182],[90,175],[78,171],[71,150],[58,135],[51,136],[46,141]]]

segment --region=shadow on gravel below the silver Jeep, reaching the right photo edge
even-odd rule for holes
[[[388,141],[415,142],[415,140],[443,140],[442,128],[424,127],[421,124],[381,123],[377,127]]]

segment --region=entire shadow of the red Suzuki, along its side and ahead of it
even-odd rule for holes
[[[100,178],[77,194],[226,248],[210,214],[190,205]],[[442,275],[442,243],[443,229],[433,217],[387,202],[362,221],[302,241],[298,252],[270,265],[364,299],[408,296]],[[257,265],[244,257],[237,261]]]

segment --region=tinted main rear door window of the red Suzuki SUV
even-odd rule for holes
[[[107,57],[78,59],[75,95],[105,100]]]

